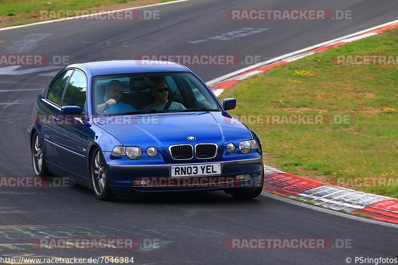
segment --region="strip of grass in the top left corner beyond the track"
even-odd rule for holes
[[[104,10],[107,10],[106,6],[112,6],[111,9],[116,10],[120,4],[134,7],[170,1],[174,0],[146,0],[140,4],[136,0],[0,0],[0,27],[43,21],[39,20],[40,10],[85,10],[99,6]]]

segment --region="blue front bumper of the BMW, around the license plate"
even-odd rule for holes
[[[220,163],[221,175],[171,178],[174,165]],[[152,165],[108,165],[108,182],[113,193],[225,190],[255,188],[261,183],[263,158],[202,163],[162,163]]]

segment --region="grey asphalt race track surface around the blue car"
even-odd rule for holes
[[[265,8],[349,9],[353,19],[231,21],[224,15],[228,9]],[[74,20],[0,31],[0,54],[66,55],[70,63],[151,54],[260,55],[265,61],[395,20],[398,2],[193,0],[146,9],[160,10],[160,19]],[[268,30],[231,40],[207,39],[243,28]],[[190,43],[203,39],[207,41]],[[33,176],[26,132],[33,100],[51,80],[49,73],[61,67],[48,71],[32,66],[14,70],[0,67],[0,176]],[[205,81],[243,67],[191,66]],[[73,250],[32,246],[35,238],[44,237],[136,238],[140,242],[158,239],[160,248]],[[326,250],[231,250],[225,246],[230,238],[349,239],[352,244],[351,248]],[[264,196],[235,201],[215,192],[103,202],[81,186],[0,190],[2,256],[133,256],[136,264],[346,264],[346,257],[397,258],[397,246],[395,228]]]

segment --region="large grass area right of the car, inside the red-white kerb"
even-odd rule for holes
[[[240,115],[348,115],[344,125],[250,124],[265,162],[335,183],[336,177],[398,177],[398,66],[338,66],[337,55],[395,55],[398,30],[356,41],[240,81]],[[397,187],[355,188],[398,198]]]

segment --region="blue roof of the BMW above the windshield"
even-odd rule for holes
[[[149,61],[149,60],[112,60],[100,62],[88,62],[67,66],[91,71],[93,75],[135,73],[135,72],[169,72],[190,70],[178,63],[171,61]]]

